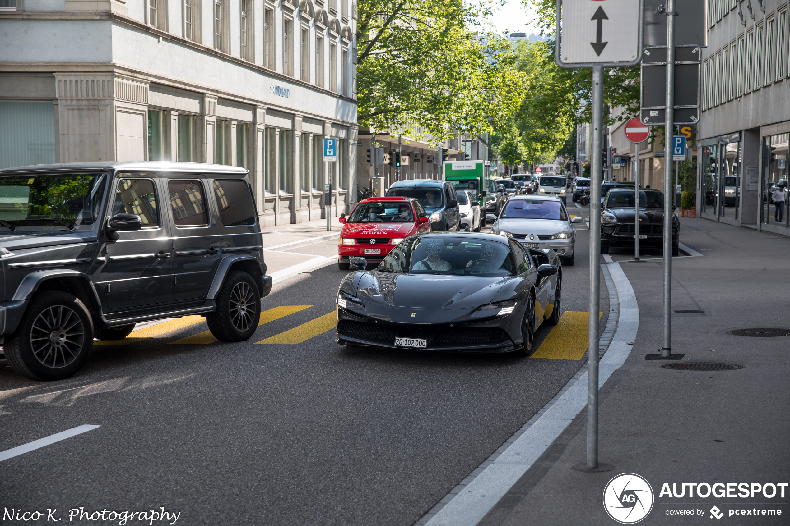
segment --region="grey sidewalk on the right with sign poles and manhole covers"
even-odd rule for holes
[[[672,348],[686,355],[683,360],[645,360],[661,346],[663,263],[609,265],[613,276],[622,268],[638,303],[634,345],[600,390],[599,461],[611,471],[572,468],[586,458],[584,409],[477,524],[617,524],[602,499],[607,483],[621,473],[638,474],[652,487],[653,509],[640,524],[790,524],[790,487],[776,486],[790,483],[790,336],[728,334],[762,327],[790,333],[790,240],[696,218],[682,219],[681,238],[703,255],[672,261]],[[627,298],[619,300],[623,311]],[[699,362],[743,368],[662,367]],[[667,489],[675,484],[679,496],[661,494],[664,483]],[[704,486],[702,497],[690,497],[680,496],[682,488],[690,489],[683,483],[731,486],[717,487],[714,494],[730,490],[721,497],[705,497]],[[739,496],[739,483],[747,483],[748,497]],[[626,506],[629,498],[634,502],[622,485],[618,491]]]

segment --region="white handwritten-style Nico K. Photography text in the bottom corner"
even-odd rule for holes
[[[2,520],[7,522],[31,522],[31,521],[44,521],[44,522],[61,522],[67,519],[68,522],[80,522],[86,524],[89,522],[103,522],[103,523],[116,523],[119,526],[126,526],[126,524],[149,524],[153,526],[156,524],[170,524],[172,526],[181,517],[181,512],[169,512],[164,508],[160,509],[146,509],[145,511],[115,511],[112,509],[98,510],[85,510],[84,507],[72,508],[68,511],[58,512],[57,508],[47,508],[43,511],[38,509],[17,509],[17,508],[3,508]]]

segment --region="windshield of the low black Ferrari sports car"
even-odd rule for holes
[[[506,244],[479,237],[419,236],[402,241],[378,272],[500,277],[514,274]]]

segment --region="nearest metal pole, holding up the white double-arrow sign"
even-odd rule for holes
[[[600,191],[604,139],[604,66],[592,66],[592,166],[590,167],[590,294],[587,328],[587,468],[598,467],[598,324],[600,311]]]

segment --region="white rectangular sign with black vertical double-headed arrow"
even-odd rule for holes
[[[635,0],[564,0],[562,62],[633,62],[639,58],[639,4]]]

